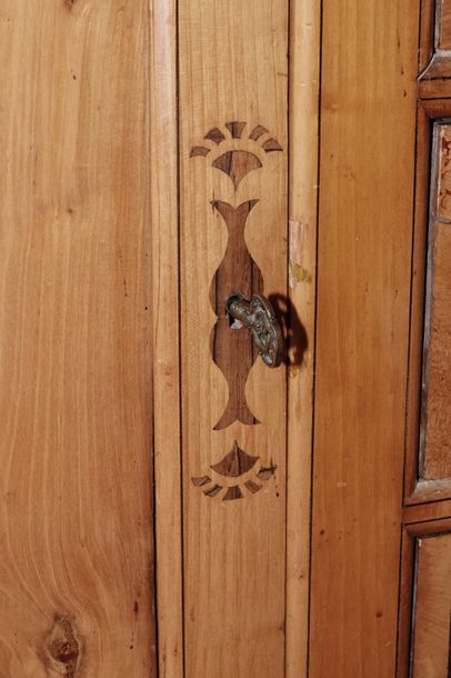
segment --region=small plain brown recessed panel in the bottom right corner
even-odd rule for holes
[[[451,619],[451,534],[417,541],[412,678],[448,678]]]

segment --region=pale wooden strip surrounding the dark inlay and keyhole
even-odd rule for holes
[[[245,243],[262,275],[264,295],[281,301],[287,295],[287,4],[179,2],[187,678],[273,678],[284,672],[285,369],[270,370],[258,359],[245,387],[251,415],[242,401],[238,407],[234,400],[229,410],[241,412],[248,423],[234,421],[218,429],[228,402],[225,377],[237,365],[229,359],[221,363],[224,375],[212,359],[210,335],[218,318],[210,285],[228,247],[225,221],[235,243],[247,217]],[[245,126],[227,127],[232,122]],[[259,124],[268,130],[261,136],[255,131]],[[274,150],[265,152],[270,148]],[[223,152],[240,150],[248,154],[237,154],[230,166],[219,160]],[[212,166],[217,160],[223,171]],[[262,167],[257,168],[258,162]],[[254,169],[238,183],[251,166]],[[259,202],[248,202],[239,215],[218,202],[237,208],[254,199]],[[220,276],[218,285],[225,271]],[[224,299],[212,299],[222,316]],[[221,361],[217,355],[216,359]],[[249,370],[249,356],[240,353],[238,359]],[[252,415],[261,423],[252,425]],[[218,472],[225,462],[211,469],[232,450],[234,440],[247,455],[259,457],[239,478]],[[257,476],[261,467],[272,469],[263,471],[265,478]],[[212,482],[194,486],[192,479],[204,476]],[[255,490],[254,486],[244,487],[248,479],[261,489],[253,493],[249,487]],[[217,495],[216,485],[222,487]],[[240,489],[228,492],[231,485]],[[238,499],[240,492],[243,497]]]

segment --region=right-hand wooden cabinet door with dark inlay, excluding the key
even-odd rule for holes
[[[444,28],[428,80],[435,10]],[[430,433],[443,477],[423,483],[412,459],[429,133],[448,110],[422,99],[438,96],[448,13],[409,0],[157,11],[153,148],[177,151],[159,164],[153,203],[164,676],[394,678],[421,675],[415,638],[417,662],[434,654],[429,604],[414,602],[415,626],[411,591],[420,579],[423,600],[434,581],[437,596],[447,588],[447,542],[428,531],[449,516],[435,502],[448,497],[443,368]],[[228,327],[237,289],[274,305],[278,370]],[[438,541],[418,559],[423,534]],[[448,612],[442,601],[439,625]]]

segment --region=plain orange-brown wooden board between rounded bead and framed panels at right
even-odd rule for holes
[[[418,21],[323,3],[311,678],[394,675]]]

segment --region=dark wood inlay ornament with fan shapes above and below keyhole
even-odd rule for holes
[[[203,143],[191,148],[191,158],[206,159],[213,170],[225,173],[233,183],[234,195],[242,180],[252,171],[263,168],[268,153],[281,151],[280,143],[269,134],[269,130],[261,124],[251,127],[245,134],[247,123],[242,121],[225,122],[223,130],[211,128],[204,136]],[[245,140],[245,148],[237,148],[235,140]],[[249,150],[249,140],[254,150]],[[233,148],[227,148],[233,142]],[[228,243],[223,259],[217,269],[210,287],[210,302],[217,315],[217,322],[211,331],[210,348],[214,363],[220,368],[228,383],[229,398],[227,407],[218,421],[213,422],[213,430],[222,430],[235,421],[244,426],[260,423],[249,408],[245,400],[245,385],[252,366],[258,356],[258,349],[252,335],[240,323],[233,322],[224,312],[224,305],[229,295],[240,290],[244,297],[251,299],[254,295],[264,291],[263,275],[253,260],[244,238],[248,217],[251,211],[259,208],[260,197],[249,196],[238,205],[230,205],[220,199],[211,202],[213,211],[220,215],[222,223],[228,230]],[[255,217],[258,215],[255,213]],[[245,468],[240,460],[252,459],[234,441],[232,450],[211,469],[221,475],[220,468]],[[233,463],[231,463],[233,460]],[[257,460],[257,458],[255,458]],[[249,469],[248,469],[249,470]],[[269,473],[268,473],[269,471]],[[260,469],[264,480],[273,475],[275,467],[269,466]],[[237,477],[247,473],[239,472]],[[230,473],[222,473],[225,477]],[[233,476],[234,477],[234,476]],[[261,477],[260,479],[263,479]],[[241,499],[243,497],[240,485],[213,482],[210,476],[193,478],[193,485],[201,487],[208,497],[222,493],[223,500]],[[206,487],[208,486],[208,487]],[[261,489],[254,479],[244,482],[248,495],[252,496]]]

